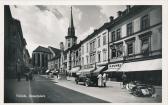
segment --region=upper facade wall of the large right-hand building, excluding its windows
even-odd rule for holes
[[[112,42],[112,37],[111,34],[113,31],[116,31],[116,29],[121,27],[121,39],[118,41],[115,41],[114,43],[123,43],[123,56],[127,56],[127,44],[126,44],[126,40],[127,39],[131,39],[133,37],[135,37],[135,43],[134,43],[134,54],[139,54],[141,53],[141,40],[139,38],[139,35],[151,31],[152,35],[151,35],[151,51],[155,51],[155,50],[161,50],[161,39],[162,39],[162,35],[161,35],[161,19],[162,19],[162,15],[161,15],[161,7],[156,6],[156,7],[151,7],[148,8],[147,10],[134,15],[133,17],[123,21],[122,23],[114,26],[110,31],[109,31],[109,39],[110,42]],[[149,20],[150,20],[150,28],[147,30],[142,31],[141,30],[141,18],[145,15],[149,15]],[[133,23],[133,35],[128,36],[127,37],[127,24],[132,22]],[[110,46],[112,46],[112,43],[110,44]],[[111,48],[109,48],[109,57],[110,57],[110,61],[115,62],[115,61],[120,61],[123,60],[122,57],[118,57],[117,59],[112,59],[112,50]]]

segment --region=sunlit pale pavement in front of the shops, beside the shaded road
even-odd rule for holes
[[[126,89],[121,89],[120,82],[107,81],[107,87],[99,88],[77,85],[72,77],[68,77],[67,80],[58,80],[57,78],[53,78],[51,81],[57,82],[57,85],[112,103],[159,103],[162,101],[161,87],[155,87],[157,94],[156,97],[135,97]]]

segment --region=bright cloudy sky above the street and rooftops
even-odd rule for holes
[[[10,6],[12,16],[20,20],[23,37],[30,55],[38,46],[59,48],[65,44],[70,20],[69,5]],[[117,17],[124,5],[72,5],[75,33],[78,42],[98,29],[110,16]]]

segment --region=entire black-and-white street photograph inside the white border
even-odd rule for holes
[[[161,102],[161,5],[4,5],[4,103]]]

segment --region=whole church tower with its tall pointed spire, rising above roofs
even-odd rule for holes
[[[77,37],[75,36],[75,28],[73,23],[72,7],[71,7],[70,23],[68,27],[68,35],[65,37],[65,39],[66,39],[65,50],[71,48],[73,45],[77,43]]]

